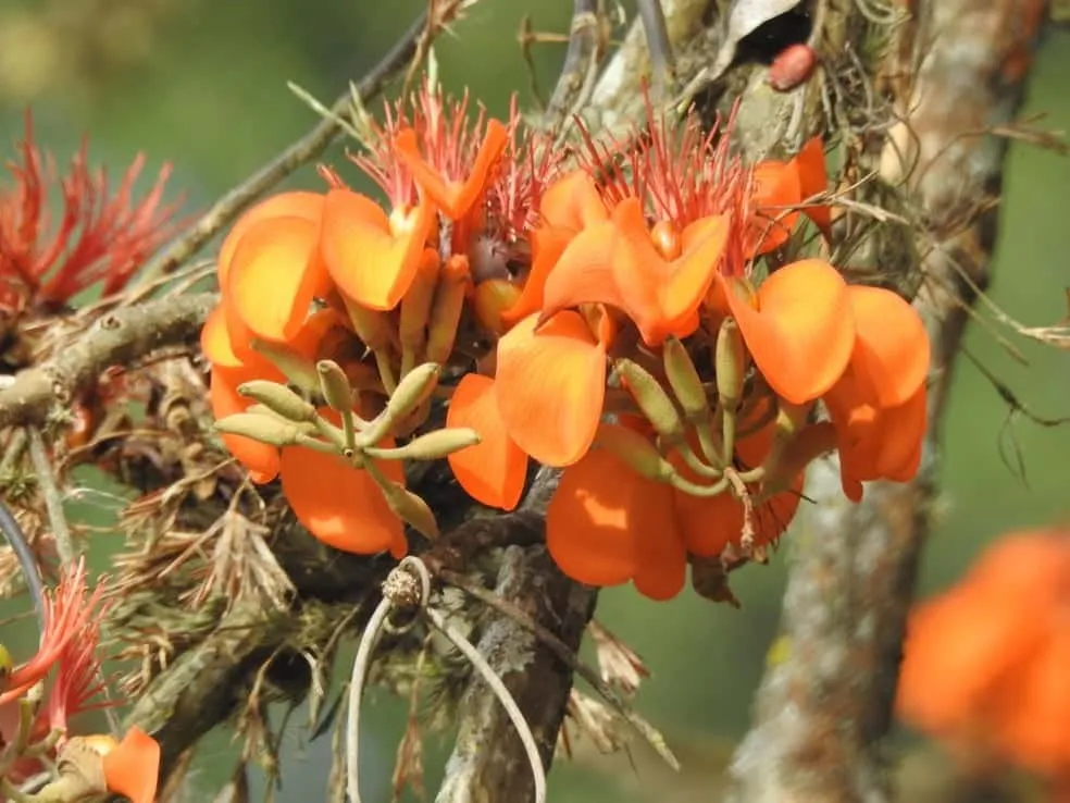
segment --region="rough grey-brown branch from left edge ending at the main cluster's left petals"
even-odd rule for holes
[[[173,296],[105,312],[70,346],[0,390],[0,429],[42,422],[112,366],[130,366],[164,346],[195,343],[216,299],[214,293]]]

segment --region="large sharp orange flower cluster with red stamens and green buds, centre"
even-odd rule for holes
[[[314,535],[400,555],[402,520],[435,531],[400,459],[446,457],[507,510],[534,461],[563,469],[560,568],[661,600],[689,556],[774,542],[822,454],[854,499],[915,474],[919,317],[819,259],[783,264],[802,215],[830,232],[807,203],[826,189],[819,139],[747,165],[731,121],[704,134],[648,110],[625,140],[584,132],[567,155],[466,106],[425,86],[369,126],[356,161],[387,208],[323,170],[326,192],[261,202],[222,246],[213,408]]]

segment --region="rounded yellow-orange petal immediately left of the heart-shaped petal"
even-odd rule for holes
[[[327,275],[315,254],[318,231],[304,218],[270,218],[241,237],[223,293],[254,336],[285,343],[308,317]]]

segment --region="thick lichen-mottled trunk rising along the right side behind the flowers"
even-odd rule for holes
[[[882,801],[881,740],[888,730],[918,557],[937,485],[942,415],[973,294],[984,287],[996,233],[1005,143],[978,135],[1009,121],[1024,89],[1045,3],[929,0],[915,4],[897,98],[903,122],[882,177],[907,182],[928,231],[916,307],[933,344],[930,425],[912,483],[872,483],[859,505],[838,467],[814,466],[811,515],[793,536],[783,604],[787,658],[771,667],[755,725],[732,774],[734,800]],[[966,279],[969,282],[965,281]]]

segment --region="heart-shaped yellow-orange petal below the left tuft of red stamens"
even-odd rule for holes
[[[320,251],[344,296],[368,309],[394,309],[415,279],[434,222],[434,210],[421,202],[395,235],[390,218],[371,198],[332,189],[323,205]]]

